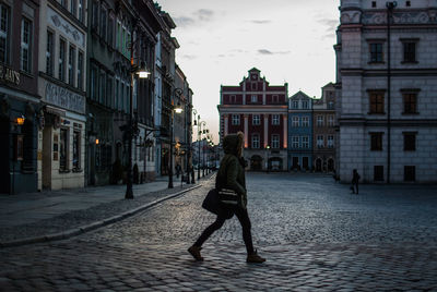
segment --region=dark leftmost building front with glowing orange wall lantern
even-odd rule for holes
[[[0,1],[0,193],[38,190],[40,1]]]

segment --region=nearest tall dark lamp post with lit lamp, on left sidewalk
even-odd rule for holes
[[[133,47],[135,41],[133,40],[134,29],[137,27],[138,20],[134,20],[132,27],[133,32],[130,34],[130,44],[128,47],[130,49],[130,94],[129,94],[129,120],[128,124],[123,125],[122,129],[125,131],[126,138],[128,139],[128,178],[126,181],[126,194],[125,198],[133,198],[132,192],[132,138],[137,135],[138,125],[133,122],[133,83],[134,83],[134,74],[138,74],[140,78],[146,78],[150,74],[145,70],[145,64],[141,62],[141,68],[135,64],[133,59]]]

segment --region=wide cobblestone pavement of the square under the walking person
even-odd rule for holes
[[[214,219],[204,187],[67,241],[0,250],[2,291],[437,291],[437,187],[347,185],[320,175],[248,174],[264,264],[246,264],[233,218]]]

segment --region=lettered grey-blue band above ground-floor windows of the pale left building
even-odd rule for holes
[[[85,97],[52,83],[46,84],[47,102],[80,113],[85,113]]]

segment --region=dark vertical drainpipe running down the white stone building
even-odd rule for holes
[[[387,2],[387,183],[390,183],[390,163],[391,163],[391,49],[390,49],[390,24],[393,9],[397,2]]]

